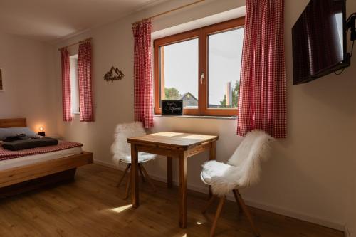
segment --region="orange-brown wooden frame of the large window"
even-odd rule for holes
[[[221,33],[224,31],[231,31],[235,28],[242,28],[245,25],[245,17],[233,19],[216,23],[211,26],[197,28],[192,31],[178,33],[173,36],[158,38],[154,41],[154,76],[155,76],[155,114],[162,114],[160,108],[160,75],[161,60],[159,49],[162,46],[168,46],[173,43],[188,41],[193,38],[199,39],[199,66],[198,66],[198,109],[187,108],[183,110],[184,115],[211,115],[211,116],[235,116],[238,115],[236,109],[211,109],[208,106],[208,93],[209,93],[209,68],[208,68],[208,36],[214,33]],[[204,80],[200,82],[200,76],[204,73]]]

